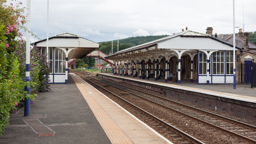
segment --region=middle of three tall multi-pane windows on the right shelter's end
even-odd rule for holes
[[[224,75],[224,50],[213,53],[213,75]]]

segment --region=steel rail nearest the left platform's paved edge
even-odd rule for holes
[[[74,73],[75,73],[75,72],[74,72]],[[80,75],[80,76],[81,76],[81,75]],[[83,76],[81,76],[81,77],[83,77]],[[85,78],[85,77],[83,77],[83,78],[86,79],[86,80],[88,80],[88,79]],[[88,81],[91,82],[91,83],[93,83],[93,82],[90,81],[90,80],[88,80]],[[200,140],[197,140],[196,138],[192,137],[191,135],[189,135],[189,134],[187,134],[187,133],[181,131],[180,129],[177,129],[176,127],[170,125],[169,123],[167,123],[167,122],[161,120],[160,118],[156,117],[155,115],[152,115],[151,113],[149,113],[149,112],[147,112],[147,111],[145,111],[145,110],[139,108],[138,106],[136,106],[136,105],[134,105],[134,104],[128,102],[127,100],[121,98],[120,96],[117,96],[116,94],[112,93],[111,91],[109,91],[109,90],[107,90],[107,89],[105,89],[105,88],[103,88],[103,87],[97,85],[96,83],[93,83],[93,84],[96,85],[96,86],[98,86],[98,87],[100,87],[100,88],[102,88],[102,89],[104,89],[105,91],[107,91],[107,92],[113,94],[114,96],[118,97],[119,99],[121,99],[122,101],[124,101],[125,103],[127,103],[128,105],[130,105],[130,106],[136,108],[137,110],[142,111],[143,114],[145,114],[146,116],[149,116],[149,117],[153,118],[155,121],[157,121],[158,123],[161,123],[163,126],[167,127],[168,129],[174,130],[174,132],[176,132],[178,135],[182,136],[183,138],[186,138],[186,139],[189,140],[189,141],[191,140],[192,143],[194,143],[194,144],[205,144],[205,143],[201,142]]]

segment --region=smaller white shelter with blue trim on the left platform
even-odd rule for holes
[[[99,48],[99,43],[80,37],[77,34],[62,33],[49,37],[49,61],[52,62],[50,83],[67,83],[67,64],[73,59],[80,59]],[[46,54],[47,39],[32,43]]]

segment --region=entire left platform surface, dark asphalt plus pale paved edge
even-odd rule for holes
[[[0,143],[171,143],[73,73],[68,84],[50,84],[31,105],[10,115]]]

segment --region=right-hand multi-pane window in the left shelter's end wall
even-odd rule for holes
[[[65,53],[62,49],[56,48],[55,49],[55,58],[54,58],[54,73],[65,73],[66,72],[66,58]]]

